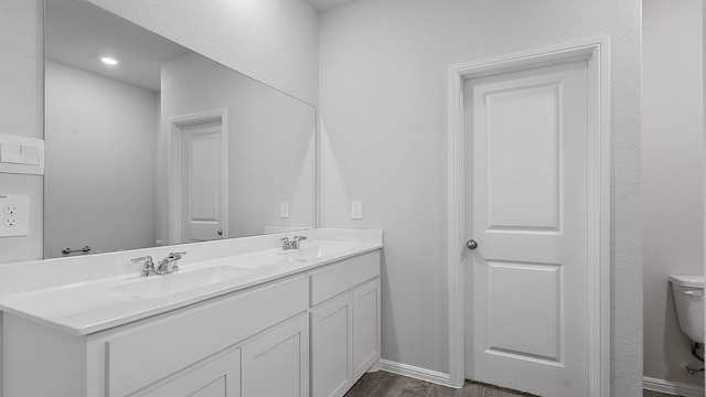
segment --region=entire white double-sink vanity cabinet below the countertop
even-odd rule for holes
[[[86,328],[1,312],[0,396],[343,396],[379,360],[379,258],[367,250],[169,311],[162,298],[96,307],[79,313]],[[90,322],[106,310],[119,325]]]

